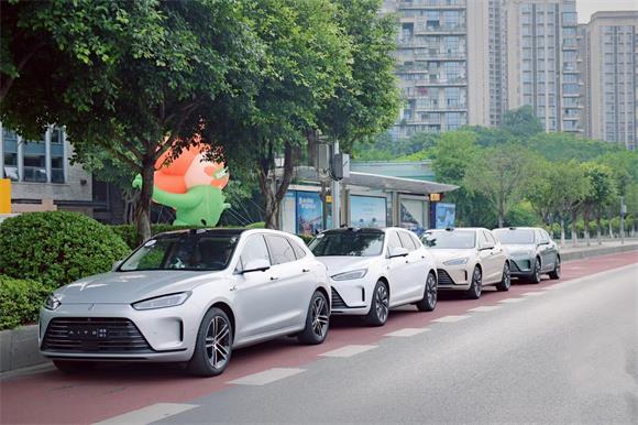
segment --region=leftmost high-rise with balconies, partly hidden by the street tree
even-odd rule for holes
[[[466,124],[466,1],[386,0],[384,12],[400,20],[396,61],[404,107],[393,137]]]

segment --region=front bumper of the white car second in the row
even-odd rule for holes
[[[370,312],[370,299],[375,282],[370,279],[351,281],[330,280],[332,286],[332,309],[334,315],[366,315]]]

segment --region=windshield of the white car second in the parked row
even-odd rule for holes
[[[339,231],[319,235],[310,250],[317,257],[374,257],[383,251],[383,232]]]

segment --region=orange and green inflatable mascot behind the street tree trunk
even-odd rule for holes
[[[226,166],[208,160],[200,146],[185,149],[165,165],[170,154],[164,153],[155,163],[153,200],[175,209],[173,226],[217,226],[230,208],[221,192],[229,178]],[[135,177],[133,187],[142,187],[142,176]]]

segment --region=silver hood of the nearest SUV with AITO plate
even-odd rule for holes
[[[62,304],[130,304],[164,294],[190,291],[220,279],[219,272],[111,272],[81,279],[55,291]]]

